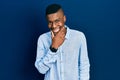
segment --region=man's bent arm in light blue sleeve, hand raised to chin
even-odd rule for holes
[[[66,29],[63,27],[56,34],[56,36],[52,35],[51,37],[52,48],[58,49],[59,46],[62,45],[65,39],[65,32],[66,32]],[[38,45],[37,45],[37,57],[36,57],[35,66],[40,73],[45,74],[51,68],[51,65],[54,64],[57,59],[58,52],[59,52],[59,49],[57,50],[57,52],[52,52],[52,50],[50,49],[46,50],[43,44],[42,38],[41,37],[39,38]]]

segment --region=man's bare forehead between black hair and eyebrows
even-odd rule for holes
[[[63,15],[64,15],[63,12],[61,10],[59,10],[56,13],[52,13],[52,14],[47,15],[47,20],[54,21],[56,19],[61,18]]]

